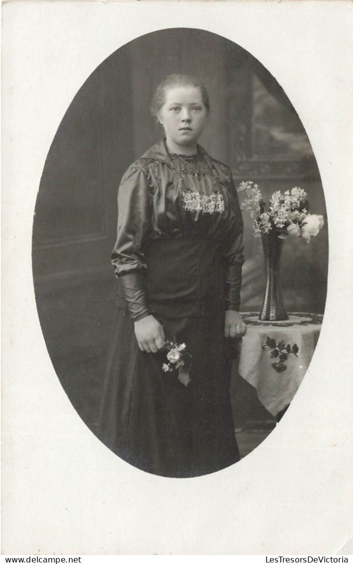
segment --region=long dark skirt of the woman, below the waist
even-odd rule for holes
[[[166,338],[185,343],[190,381],[164,372],[166,352],[139,350],[129,311],[117,309],[98,436],[123,460],[165,477],[195,477],[239,460],[230,401],[232,359],[224,311],[193,318],[157,316]]]

